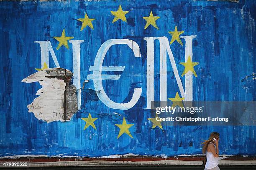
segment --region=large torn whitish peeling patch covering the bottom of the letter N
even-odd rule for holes
[[[29,75],[22,82],[39,82],[39,95],[29,104],[28,112],[33,112],[38,120],[53,122],[69,121],[77,112],[76,87],[70,85],[73,73],[64,68],[48,68]]]

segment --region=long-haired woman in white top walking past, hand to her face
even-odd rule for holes
[[[217,132],[212,132],[209,139],[202,143],[204,144],[202,153],[206,153],[204,158],[205,170],[220,170],[218,167],[219,140],[220,134]]]

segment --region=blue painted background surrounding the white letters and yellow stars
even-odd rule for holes
[[[129,11],[128,23],[114,18],[110,11],[119,5]],[[72,2],[0,2],[0,156],[9,155],[79,155],[104,156],[134,153],[140,155],[180,155],[201,153],[200,143],[212,131],[220,133],[220,153],[256,155],[255,126],[164,126],[152,129],[146,107],[146,41],[143,37],[166,36],[169,41],[177,26],[182,35],[197,35],[193,41],[193,61],[198,77],[194,77],[194,100],[256,100],[255,80],[255,5],[254,1],[208,2],[205,0],[129,0]],[[146,24],[143,16],[152,10],[161,18],[159,30]],[[80,31],[87,13],[94,30]],[[141,58],[134,57],[125,45],[110,48],[105,66],[125,66],[120,80],[103,80],[103,87],[115,102],[129,101],[129,91],[142,87],[138,103],[130,110],[114,110],[105,106],[94,91],[92,81],[82,90],[82,110],[70,122],[46,123],[28,113],[27,105],[37,96],[39,83],[23,83],[23,78],[41,67],[40,46],[34,41],[49,40],[61,67],[72,68],[72,45],[61,47],[53,38],[65,29],[66,36],[84,40],[81,45],[81,82],[86,80],[97,50],[109,39],[125,38],[138,43]],[[183,40],[184,43],[184,40]],[[179,75],[184,67],[184,45],[171,45]],[[158,60],[157,60],[158,59]],[[168,97],[178,91],[174,73],[167,60]],[[50,67],[55,67],[50,57]],[[159,100],[159,43],[155,41],[155,96]],[[246,76],[248,79],[243,80]],[[184,83],[184,77],[181,77]],[[128,96],[128,97],[127,97]],[[115,114],[114,112],[122,115]],[[83,130],[81,117],[98,117],[97,130]],[[123,116],[133,139],[124,134],[117,139]]]

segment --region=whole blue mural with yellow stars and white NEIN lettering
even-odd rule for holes
[[[252,117],[171,125],[152,112],[254,104],[256,3],[234,1],[1,1],[0,157],[196,155],[212,131],[220,154],[255,155]]]

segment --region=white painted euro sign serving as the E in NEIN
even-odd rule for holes
[[[92,75],[87,75],[87,80],[93,80],[93,84],[95,87],[95,90],[97,91],[97,96],[99,99],[108,107],[113,109],[120,109],[120,110],[128,110],[131,107],[133,107],[136,102],[138,102],[139,98],[141,97],[142,89],[141,87],[135,88],[133,92],[133,96],[131,100],[127,103],[116,103],[108,97],[108,95],[105,93],[103,86],[102,86],[102,80],[119,80],[120,75],[102,75],[102,71],[123,71],[125,69],[124,66],[102,66],[103,60],[105,58],[106,53],[108,52],[109,48],[112,45],[118,45],[118,44],[126,44],[128,45],[134,53],[135,57],[141,57],[140,53],[140,47],[136,42],[133,40],[128,39],[110,39],[104,42],[100,49],[97,52],[97,55],[94,60],[94,65],[90,66],[89,71],[93,71]]]

